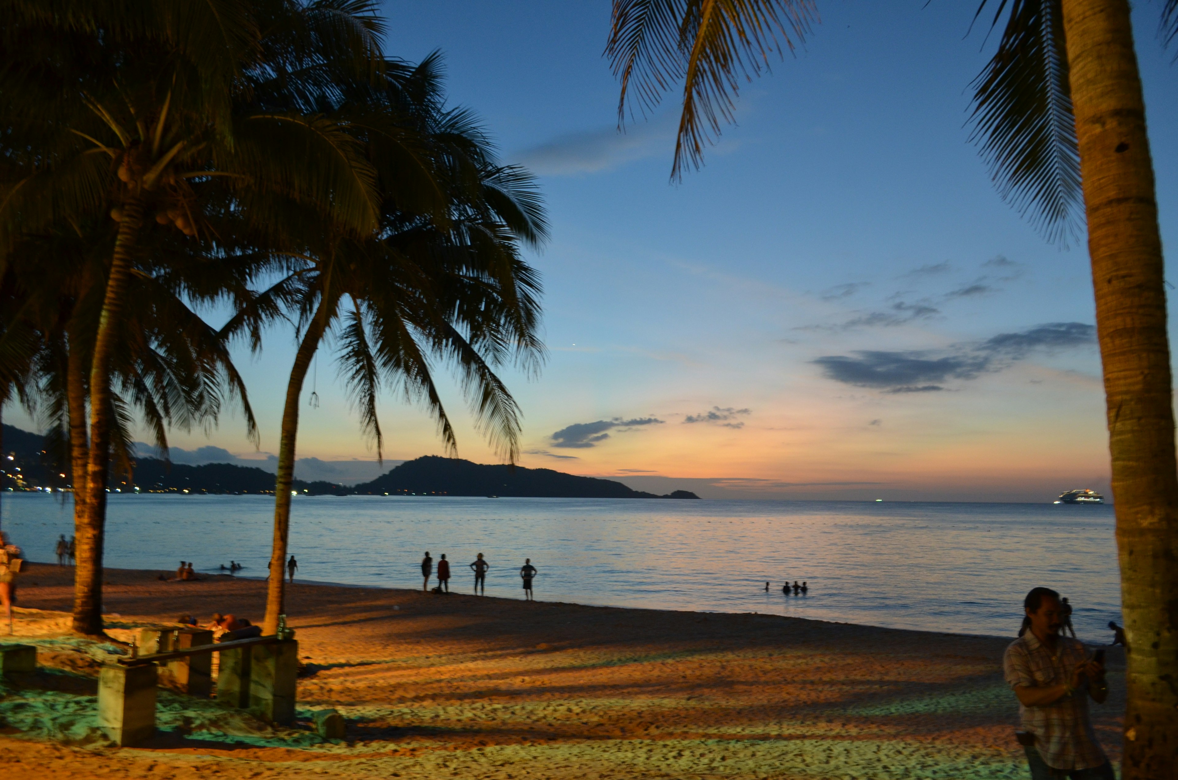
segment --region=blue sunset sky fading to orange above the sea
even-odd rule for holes
[[[1170,244],[1176,52],[1158,42],[1159,4],[1134,5]],[[529,255],[547,361],[538,377],[502,372],[524,415],[521,464],[714,498],[1107,490],[1083,238],[1045,242],[968,141],[968,85],[994,42],[969,32],[975,4],[820,2],[806,45],[742,85],[737,125],[679,184],[674,94],[618,132],[608,0],[384,7],[388,51],[441,51],[451,103],[547,203],[551,240]],[[225,415],[207,436],[174,431],[177,460],[277,451],[292,335],[238,355],[260,449]],[[320,404],[303,404],[298,455],[316,461],[300,476],[371,478],[444,454],[425,411],[388,395],[375,463],[336,370],[322,351],[304,390]],[[444,394],[459,456],[497,462],[457,385]]]

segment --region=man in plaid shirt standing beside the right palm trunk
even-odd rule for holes
[[[1019,741],[1032,779],[1113,780],[1088,720],[1088,696],[1098,703],[1108,696],[1104,666],[1090,660],[1080,642],[1059,635],[1064,612],[1054,590],[1034,588],[1024,608],[1023,629],[1002,667],[1019,699],[1028,735]]]

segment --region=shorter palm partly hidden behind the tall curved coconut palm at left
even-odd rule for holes
[[[92,232],[28,237],[15,245],[6,276],[7,286],[15,291],[12,297],[20,305],[6,309],[12,326],[0,336],[0,369],[15,358],[28,365],[31,395],[41,401],[51,448],[60,462],[71,463],[68,470],[74,480],[86,474],[91,454],[86,377],[106,289],[102,257],[108,253],[113,232],[105,222],[91,224]],[[170,259],[168,270],[179,266],[179,276],[192,276],[183,273],[184,264],[185,258]],[[223,290],[234,286],[232,279],[220,283]],[[244,383],[230,361],[224,337],[185,299],[200,300],[200,291],[192,285],[177,289],[165,273],[137,273],[128,283],[128,303],[119,320],[119,349],[112,359],[110,410],[111,455],[128,477],[135,455],[133,417],[146,422],[166,458],[167,430],[190,430],[216,422],[227,391],[239,397],[247,432],[256,437]],[[85,501],[79,493],[75,500]],[[105,515],[92,515],[98,520],[91,527],[97,535],[97,554],[79,560],[74,627],[85,634],[100,634]]]

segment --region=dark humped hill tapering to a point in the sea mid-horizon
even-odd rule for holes
[[[656,496],[613,480],[582,477],[552,469],[525,469],[522,465],[485,465],[436,455],[406,461],[371,482],[351,488],[351,493],[504,498],[699,498],[687,490]]]

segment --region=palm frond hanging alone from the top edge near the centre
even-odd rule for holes
[[[770,55],[794,51],[815,21],[812,0],[614,0],[605,55],[622,82],[620,124],[631,80],[646,113],[682,79],[671,163],[671,179],[681,179],[735,120],[740,79],[768,72]]]

